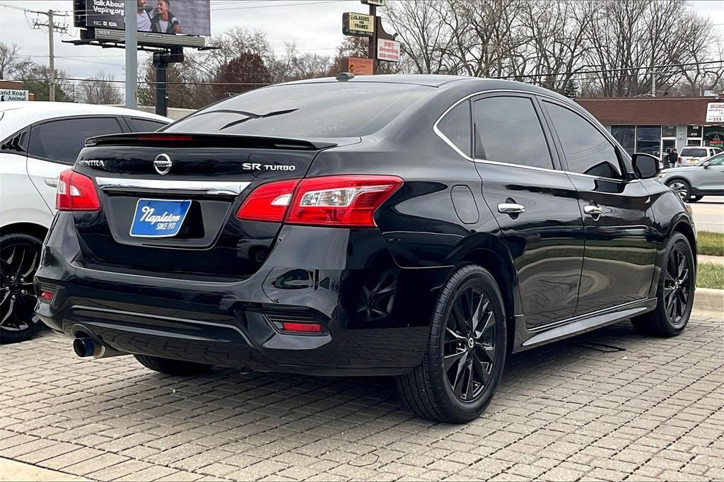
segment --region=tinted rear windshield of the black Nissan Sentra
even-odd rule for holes
[[[171,124],[165,132],[348,138],[389,124],[431,92],[424,85],[309,83],[251,90]]]

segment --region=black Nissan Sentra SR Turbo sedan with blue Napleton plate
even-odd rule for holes
[[[88,140],[36,312],[81,356],[390,375],[462,423],[505,358],[631,318],[679,334],[696,233],[658,160],[522,83],[375,76],[253,90]]]

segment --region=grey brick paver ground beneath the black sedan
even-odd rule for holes
[[[0,457],[119,481],[722,481],[724,320],[709,316],[675,339],[622,323],[514,355],[462,426],[414,418],[387,379],[161,376],[45,332],[0,347]]]

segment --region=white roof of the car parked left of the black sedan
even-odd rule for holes
[[[172,119],[125,107],[98,106],[89,103],[10,101],[0,102],[0,138],[27,125],[56,117],[110,115],[172,122]]]

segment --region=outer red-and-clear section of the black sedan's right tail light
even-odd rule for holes
[[[326,176],[302,179],[285,222],[310,226],[375,227],[374,212],[403,179],[397,176]]]

